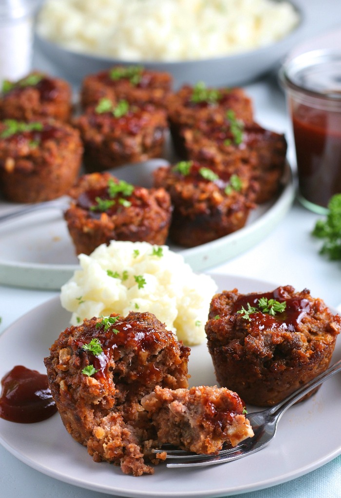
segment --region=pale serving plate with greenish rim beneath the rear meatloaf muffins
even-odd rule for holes
[[[115,176],[135,185],[151,186],[151,172],[165,159],[114,170]],[[282,189],[273,201],[250,213],[242,229],[190,249],[169,244],[179,251],[194,271],[203,271],[250,249],[265,238],[292,205],[295,188],[287,164]],[[0,202],[0,215],[22,205]],[[0,224],[0,283],[35,289],[55,289],[67,282],[78,268],[78,259],[61,209],[37,211]]]

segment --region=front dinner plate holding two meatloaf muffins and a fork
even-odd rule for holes
[[[219,290],[237,287],[240,292],[257,292],[276,287],[237,276],[213,277]],[[69,318],[56,297],[12,324],[0,337],[0,378],[15,365],[44,373],[43,358],[69,325]],[[340,358],[339,341],[332,362]],[[206,344],[192,347],[189,373],[191,385],[216,383]],[[252,411],[252,407],[248,409]],[[222,497],[289,481],[340,455],[341,442],[333,422],[340,412],[338,375],[327,380],[310,399],[291,407],[281,418],[275,439],[254,455],[199,469],[167,469],[160,464],[154,475],[138,478],[124,475],[108,463],[95,463],[86,448],[67,433],[58,414],[36,424],[0,419],[0,443],[33,469],[81,488],[133,498]]]

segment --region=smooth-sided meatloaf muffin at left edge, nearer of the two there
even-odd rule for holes
[[[82,160],[79,132],[54,120],[0,122],[0,190],[13,202],[41,202],[67,193]]]

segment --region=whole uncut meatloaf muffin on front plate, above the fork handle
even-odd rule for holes
[[[284,311],[261,308],[264,297],[268,304],[285,302]],[[249,305],[255,311],[244,313]],[[217,381],[258,406],[276,404],[324,372],[340,331],[339,315],[309,290],[295,292],[289,285],[266,293],[217,294],[206,324]]]

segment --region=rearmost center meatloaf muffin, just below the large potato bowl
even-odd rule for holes
[[[166,72],[142,66],[115,66],[83,80],[81,104],[86,108],[106,98],[114,102],[124,99],[139,105],[149,102],[163,107],[172,84],[172,76]]]

